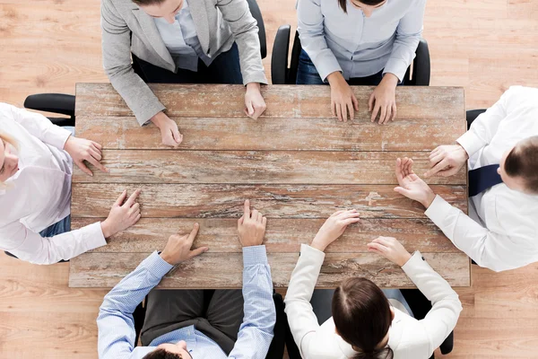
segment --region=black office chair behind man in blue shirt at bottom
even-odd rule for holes
[[[145,301],[138,304],[133,313],[134,319],[134,343],[138,345],[138,339],[140,332],[143,328],[143,322],[145,320],[145,313],[147,308],[148,297]],[[290,331],[286,313],[284,312],[284,301],[282,295],[279,293],[273,293],[274,308],[276,310],[276,323],[274,324],[274,336],[269,351],[265,356],[265,359],[282,359],[284,356],[284,346],[286,342],[286,333]]]

